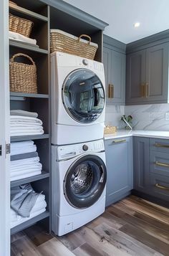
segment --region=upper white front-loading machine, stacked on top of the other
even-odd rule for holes
[[[101,62],[52,53],[51,88],[54,145],[103,138],[105,72]]]

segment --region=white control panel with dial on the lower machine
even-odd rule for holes
[[[74,158],[74,156],[79,156],[86,153],[97,153],[100,151],[105,151],[103,140],[58,146],[57,161]]]

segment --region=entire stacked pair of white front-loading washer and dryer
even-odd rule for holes
[[[52,231],[63,235],[105,212],[105,73],[101,62],[51,54]]]

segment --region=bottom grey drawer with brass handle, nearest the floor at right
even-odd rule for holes
[[[169,202],[169,177],[151,174],[149,191],[149,194]]]

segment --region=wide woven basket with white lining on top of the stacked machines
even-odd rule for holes
[[[87,37],[89,41],[82,39]],[[85,57],[94,60],[98,45],[91,42],[90,36],[82,34],[80,37],[74,37],[59,29],[50,31],[50,51],[66,52],[69,54]]]

